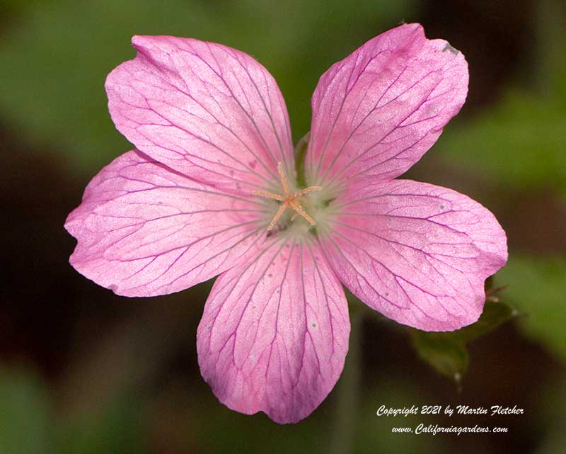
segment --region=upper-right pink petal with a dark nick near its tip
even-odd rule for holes
[[[463,105],[468,65],[419,24],[373,38],[328,69],[313,93],[308,181],[388,181],[427,152]]]

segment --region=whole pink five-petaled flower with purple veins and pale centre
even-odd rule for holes
[[[495,217],[450,189],[393,178],[427,152],[468,91],[463,55],[400,25],[328,69],[296,171],[289,118],[255,59],[212,42],[134,36],[106,80],[136,149],[67,219],[71,264],[130,297],[219,275],[197,330],[200,370],[229,408],[311,414],[348,349],[342,284],[402,324],[458,329],[507,261]]]

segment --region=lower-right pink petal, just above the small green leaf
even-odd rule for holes
[[[490,211],[427,183],[374,183],[337,201],[325,251],[337,276],[397,322],[449,331],[475,322],[484,280],[507,261],[507,238]]]

